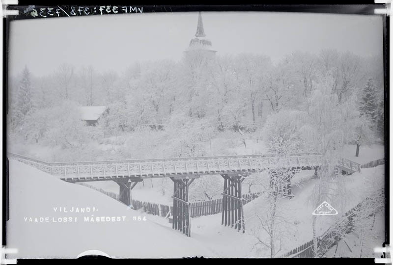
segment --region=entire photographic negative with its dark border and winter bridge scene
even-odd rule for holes
[[[370,238],[389,241],[388,33],[387,17],[372,15],[378,7],[9,6],[19,15],[5,32],[4,245],[19,249],[16,258],[92,249],[115,258],[375,258]],[[12,169],[22,170],[19,182]],[[365,234],[375,223],[383,230]],[[114,230],[102,240],[105,226]],[[149,231],[156,250],[141,251],[152,241],[143,239],[139,251],[120,251],[125,243],[112,242],[131,230]],[[27,252],[31,241],[17,231],[36,248]],[[70,231],[92,242],[59,247],[55,231],[62,242]],[[189,245],[194,233],[215,238]],[[277,234],[296,239],[285,245]],[[242,250],[220,247],[230,237]]]

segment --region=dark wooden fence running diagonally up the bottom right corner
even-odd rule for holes
[[[380,189],[378,192],[384,192],[383,189]],[[377,193],[378,193],[377,192]],[[320,253],[324,255],[329,248],[335,245],[340,239],[340,234],[349,234],[354,229],[354,217],[356,216],[357,212],[361,210],[361,207],[367,201],[372,200],[375,196],[378,196],[377,193],[375,195],[369,196],[361,201],[358,205],[354,208],[350,209],[349,211],[345,212],[338,223],[344,223],[343,226],[339,226],[337,222],[329,227],[325,233],[318,237],[318,249],[324,250],[324,253]],[[370,214],[370,216],[381,209],[374,209],[374,212]],[[339,227],[340,232],[337,231],[337,227]],[[300,245],[291,251],[279,256],[278,258],[313,258],[314,257],[314,240],[311,239],[307,243]]]

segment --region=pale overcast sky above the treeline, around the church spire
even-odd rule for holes
[[[121,73],[134,61],[179,60],[194,38],[197,12],[96,15],[10,23],[10,75],[25,65],[51,74],[63,62]],[[382,17],[272,12],[202,12],[217,55],[258,53],[277,62],[321,49],[382,55]]]

